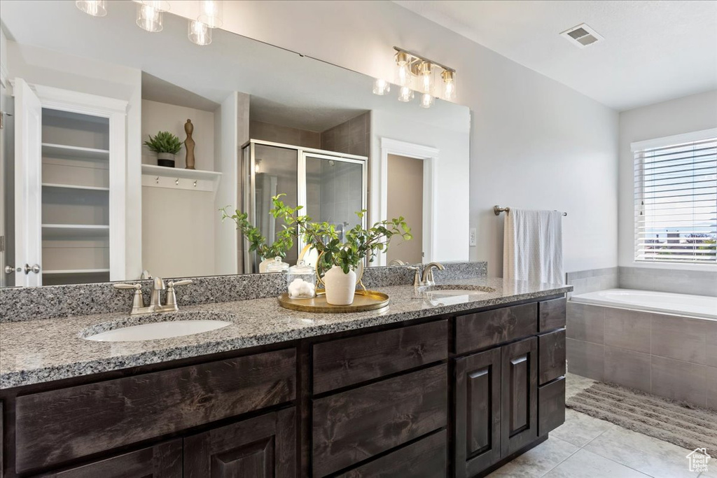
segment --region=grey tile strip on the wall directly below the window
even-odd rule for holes
[[[717,297],[717,271],[620,267],[619,287]]]

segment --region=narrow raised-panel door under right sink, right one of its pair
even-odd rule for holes
[[[538,438],[538,338],[501,348],[500,451],[507,457]]]

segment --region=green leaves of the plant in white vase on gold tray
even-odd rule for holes
[[[346,231],[346,241],[341,242],[336,229],[328,222],[313,222],[309,216],[302,216],[298,212],[302,206],[291,208],[286,206],[281,197],[283,194],[272,198],[273,208],[271,214],[275,218],[281,218],[287,224],[287,231],[301,235],[307,244],[320,253],[323,252],[320,267],[331,266],[341,267],[344,274],[359,267],[361,261],[368,257],[369,262],[374,262],[376,254],[386,252],[393,236],[400,236],[408,241],[412,239],[411,228],[406,224],[403,217],[376,222],[369,229],[364,229],[357,224],[353,229]],[[363,219],[366,209],[356,212],[359,219]]]

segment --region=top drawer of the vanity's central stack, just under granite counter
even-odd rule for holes
[[[323,393],[448,357],[448,321],[385,330],[313,346],[313,393]]]

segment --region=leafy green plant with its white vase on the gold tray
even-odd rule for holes
[[[401,236],[412,239],[411,229],[403,217],[376,222],[369,229],[358,224],[346,231],[346,241],[341,242],[333,224],[313,222],[309,216],[300,216],[302,206],[291,208],[281,201],[280,194],[272,198],[271,213],[282,218],[288,227],[285,231],[301,235],[318,250],[318,269],[326,270],[323,283],[326,286],[326,302],[331,305],[351,305],[356,292],[356,269],[365,259],[374,262],[376,254],[389,249],[391,237]],[[357,211],[363,219],[366,209]]]

